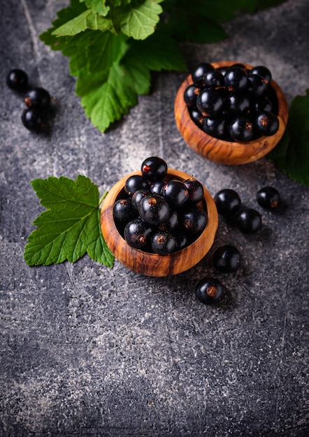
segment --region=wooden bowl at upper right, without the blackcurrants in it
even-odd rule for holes
[[[236,62],[222,61],[212,63],[215,68],[228,67],[233,64],[236,64]],[[243,65],[249,69],[252,68],[249,64]],[[268,154],[268,152],[271,151],[271,149],[273,149],[282,138],[287,126],[288,105],[285,95],[274,80],[271,80],[271,87],[273,88],[273,91],[275,91],[275,95],[278,99],[279,129],[275,135],[269,137],[263,136],[248,142],[218,140],[217,138],[211,137],[203,132],[201,128],[196,126],[189,115],[187,105],[183,98],[185,89],[192,83],[192,77],[189,75],[178,89],[174,108],[175,121],[185,142],[187,142],[189,147],[196,151],[196,153],[204,158],[214,161],[215,163],[227,165],[250,163]]]

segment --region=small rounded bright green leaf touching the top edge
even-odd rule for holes
[[[120,22],[122,32],[137,40],[144,40],[153,34],[163,12],[159,1],[145,0],[139,6],[129,6],[128,12]]]

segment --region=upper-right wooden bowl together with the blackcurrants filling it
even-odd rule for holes
[[[285,95],[266,66],[203,62],[175,98],[182,138],[196,153],[220,164],[265,156],[282,138],[287,117]]]

